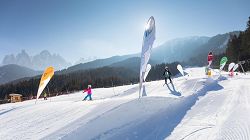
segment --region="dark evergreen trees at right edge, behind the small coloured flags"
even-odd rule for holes
[[[224,56],[228,58],[228,63],[239,63],[240,61],[244,61],[242,65],[244,70],[250,71],[250,17],[247,22],[246,30],[241,31],[239,35],[231,34],[225,52],[219,54],[217,52],[217,54],[214,55],[211,67],[218,69],[220,67],[220,60]],[[206,66],[207,55],[198,54],[188,61],[183,62],[183,64],[185,66]],[[224,68],[226,69],[227,67]],[[241,69],[239,70],[241,71]]]

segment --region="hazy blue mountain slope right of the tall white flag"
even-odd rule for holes
[[[213,37],[187,37],[170,40],[152,51],[151,59],[161,62],[185,62],[187,65],[206,63],[209,51],[214,54],[225,53],[232,35],[239,31],[218,34]]]

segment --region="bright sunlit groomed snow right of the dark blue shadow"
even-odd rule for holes
[[[250,139],[249,83],[232,78],[221,84],[228,88],[200,100],[167,139]]]

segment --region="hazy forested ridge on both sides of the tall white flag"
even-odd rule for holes
[[[226,51],[227,43],[231,35],[238,35],[239,32],[230,32],[219,34],[213,37],[186,37],[167,41],[160,46],[154,46],[150,60],[153,64],[186,62],[186,65],[203,64],[206,62],[208,51],[220,54]],[[196,52],[195,54],[193,52]],[[70,73],[78,70],[86,70],[90,68],[99,68],[103,66],[125,66],[129,64],[132,69],[138,68],[134,57],[140,57],[140,54],[131,54],[124,56],[113,56],[106,59],[97,59],[91,62],[77,64],[64,69],[60,73]],[[199,59],[201,58],[201,59]],[[128,60],[127,60],[128,59]],[[193,62],[190,62],[192,60]],[[139,60],[140,61],[140,60]],[[135,63],[134,63],[135,62]]]

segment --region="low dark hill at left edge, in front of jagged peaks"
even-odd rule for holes
[[[32,69],[15,64],[4,65],[0,67],[0,84],[4,84],[24,77],[32,77],[41,73],[42,72],[34,71]]]

